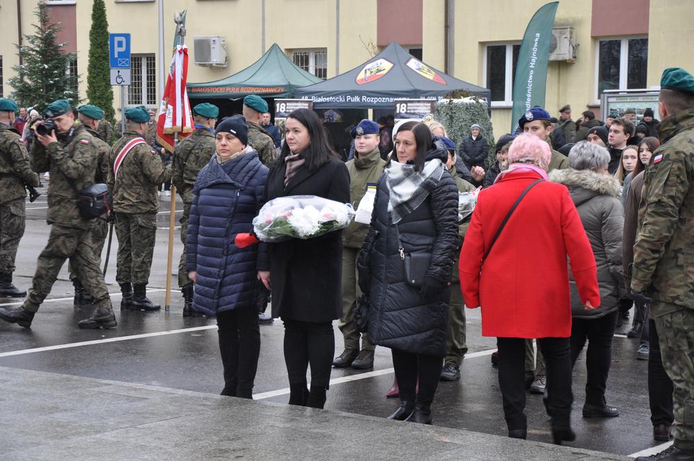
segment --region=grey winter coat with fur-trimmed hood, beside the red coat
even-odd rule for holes
[[[568,187],[583,228],[595,255],[600,287],[600,307],[585,310],[573,274],[571,313],[577,319],[597,319],[617,310],[624,294],[622,276],[622,233],[624,208],[616,178],[590,170],[559,169],[550,173],[550,180]]]

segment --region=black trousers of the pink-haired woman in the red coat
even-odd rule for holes
[[[568,337],[543,337],[537,340],[545,357],[547,369],[547,409],[552,415],[552,428],[570,424],[571,356]],[[500,337],[499,387],[504,403],[504,416],[509,430],[527,428],[525,419],[525,340]],[[399,384],[399,381],[398,381]],[[421,383],[420,383],[421,385]]]

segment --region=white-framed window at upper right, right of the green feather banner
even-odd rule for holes
[[[599,40],[595,54],[596,101],[604,90],[645,88],[648,38]]]

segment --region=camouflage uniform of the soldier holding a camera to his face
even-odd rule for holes
[[[51,175],[46,221],[52,226],[48,244],[37,261],[31,290],[22,305],[29,312],[36,312],[49,295],[67,258],[71,258],[78,277],[92,294],[96,308],[111,309],[103,274],[91,246],[92,221],[81,217],[76,206],[77,191],[94,184],[98,158],[94,137],[78,122],[72,128],[71,138],[60,134],[58,142],[48,147],[40,142],[33,144],[31,168],[37,172],[49,171]]]

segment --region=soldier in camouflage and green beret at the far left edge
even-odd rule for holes
[[[11,128],[16,112],[15,101],[0,99],[0,297],[26,296],[25,291],[12,285],[12,272],[19,240],[24,235],[24,185],[40,185],[19,134]]]

